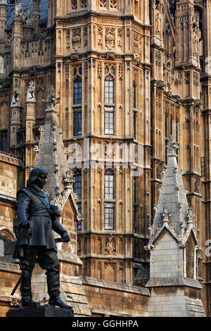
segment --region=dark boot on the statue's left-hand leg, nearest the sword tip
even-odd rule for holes
[[[39,304],[38,302],[32,300],[30,275],[28,270],[22,270],[20,278],[20,293],[22,296],[21,304],[23,307],[30,306],[30,304]]]

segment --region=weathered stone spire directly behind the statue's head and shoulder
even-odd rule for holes
[[[77,194],[73,192],[73,172],[68,168],[68,161],[65,156],[67,150],[63,146],[63,129],[58,127],[56,104],[60,98],[56,98],[56,91],[51,86],[46,92],[46,120],[45,125],[39,128],[41,136],[39,146],[34,146],[37,155],[34,160],[34,167],[44,168],[48,171],[48,181],[45,185],[46,191],[51,195],[51,204],[56,204],[60,212],[63,211],[68,197],[72,199],[75,207],[77,220],[82,216],[77,211]]]

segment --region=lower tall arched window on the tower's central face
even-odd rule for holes
[[[115,200],[114,200],[114,173],[106,170],[104,180],[104,228],[114,230]]]

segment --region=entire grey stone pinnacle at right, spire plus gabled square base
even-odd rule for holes
[[[204,317],[202,287],[198,282],[200,246],[177,165],[177,148],[171,136],[165,177],[145,247],[151,251],[150,279],[146,284],[151,288],[148,313],[149,316]]]

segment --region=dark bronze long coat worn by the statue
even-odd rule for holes
[[[30,220],[32,237],[30,246],[43,246],[46,249],[56,249],[53,232],[63,236],[65,229],[56,218],[58,208],[50,204],[51,197],[48,196],[37,185],[26,187],[18,191],[18,222]],[[25,228],[19,226],[18,240],[15,245],[14,258],[23,256],[23,245],[27,244]]]

